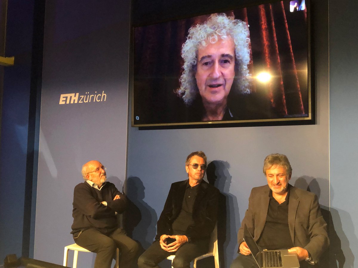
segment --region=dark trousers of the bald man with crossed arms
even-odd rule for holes
[[[91,228],[81,232],[74,242],[91,252],[97,253],[95,268],[110,268],[112,259],[116,256],[116,248],[121,252],[120,268],[130,268],[138,252],[138,244],[127,237],[123,229],[116,229],[106,235],[99,230]]]

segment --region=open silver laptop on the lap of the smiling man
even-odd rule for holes
[[[288,252],[287,249],[260,250],[253,239],[246,224],[244,226],[244,241],[252,253],[258,268],[299,268],[296,252]]]

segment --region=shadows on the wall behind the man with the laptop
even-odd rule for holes
[[[309,183],[308,183],[309,182]],[[302,176],[297,178],[295,186],[309,192],[315,193],[320,198],[321,187],[326,185],[328,180],[321,178],[313,178],[309,176]],[[333,189],[330,188],[330,200],[333,200]],[[354,226],[352,218],[349,213],[343,210],[337,210],[334,208],[328,208],[323,205],[320,205],[321,213],[324,220],[328,224],[328,235],[330,240],[329,249],[326,250],[320,258],[320,267],[329,267],[329,268],[343,268],[343,267],[354,267],[354,255],[352,250],[349,248],[349,241],[345,232],[349,234],[354,233]],[[344,218],[345,224],[349,228],[345,229],[345,232],[342,228],[342,222],[340,217]],[[334,219],[334,222],[333,222]],[[356,238],[357,239],[357,238]],[[346,258],[347,256],[347,258]]]

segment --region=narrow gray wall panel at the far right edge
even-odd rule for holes
[[[338,234],[331,255],[344,267],[358,267],[357,9],[355,1],[329,1],[330,212]]]

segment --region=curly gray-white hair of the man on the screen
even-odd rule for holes
[[[195,73],[198,63],[198,48],[206,46],[207,41],[214,44],[219,39],[225,40],[231,36],[235,44],[235,79],[234,88],[241,93],[250,93],[248,87],[250,63],[250,37],[248,25],[226,14],[212,14],[203,24],[197,24],[189,29],[187,40],[182,46],[184,60],[183,73],[180,76],[180,88],[176,93],[190,105],[199,93]]]

